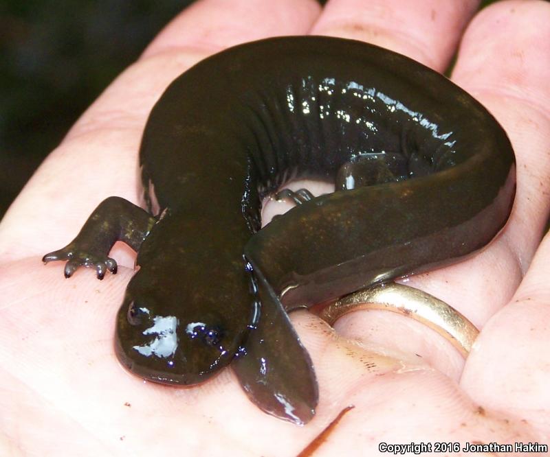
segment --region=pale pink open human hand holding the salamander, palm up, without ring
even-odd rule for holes
[[[83,114],[0,224],[0,455],[294,456],[349,405],[316,456],[375,454],[384,441],[550,445],[550,237],[539,246],[550,207],[550,4],[476,8],[204,0],[177,16]],[[111,251],[119,272],[104,281],[84,269],[63,279],[61,263],[40,259],[65,246],[107,196],[138,201],[140,136],[171,80],[230,45],[307,33],[365,40],[437,71],[460,42],[452,80],[507,130],[518,189],[509,224],[483,252],[404,280],[482,329],[466,362],[397,314],[354,312],[331,329],[310,312],[292,313],[320,385],[315,419],[298,427],[252,405],[230,370],[194,388],[124,371],[113,331],[133,274],[126,246]],[[281,208],[271,204],[265,218]]]

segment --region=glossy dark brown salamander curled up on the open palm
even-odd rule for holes
[[[287,312],[483,248],[516,178],[507,135],[465,91],[323,36],[246,43],[188,69],[151,110],[140,171],[147,211],[107,198],[43,260],[102,279],[126,242],[140,268],[117,317],[122,365],[192,385],[231,364],[254,403],[294,423],[314,416],[318,386]],[[336,191],[284,190],[304,178]],[[261,229],[273,194],[297,204]]]

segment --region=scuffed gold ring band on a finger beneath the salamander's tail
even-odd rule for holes
[[[333,325],[344,314],[358,309],[383,309],[418,320],[450,341],[464,357],[479,333],[470,320],[444,301],[396,283],[377,284],[346,295],[323,309],[320,318]]]

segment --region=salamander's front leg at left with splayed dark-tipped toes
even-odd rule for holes
[[[124,198],[106,198],[91,213],[72,242],[46,254],[42,261],[67,260],[66,278],[72,277],[78,267],[85,266],[96,268],[98,279],[103,279],[107,270],[113,274],[117,272],[115,260],[108,257],[113,244],[122,241],[139,250],[155,222],[144,209]]]

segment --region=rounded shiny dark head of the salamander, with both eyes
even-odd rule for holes
[[[116,323],[115,350],[129,371],[162,384],[188,385],[205,381],[232,360],[248,331],[248,316],[235,320],[197,291],[196,303],[185,303],[181,281],[177,292],[154,283],[142,288],[140,282],[129,284]]]

